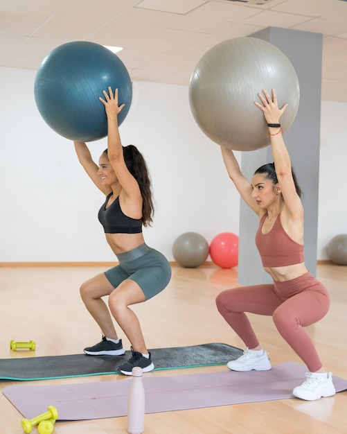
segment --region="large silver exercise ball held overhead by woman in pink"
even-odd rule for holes
[[[283,132],[299,108],[296,71],[276,46],[256,37],[236,37],[208,50],[190,78],[189,103],[199,128],[215,143],[233,150],[256,150],[270,144],[258,93],[276,90]]]

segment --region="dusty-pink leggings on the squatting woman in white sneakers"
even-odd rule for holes
[[[217,309],[248,348],[259,345],[244,312],[272,315],[281,336],[307,365],[317,372],[322,364],[303,327],[321,320],[328,312],[328,290],[310,272],[289,281],[224,290],[216,298]]]

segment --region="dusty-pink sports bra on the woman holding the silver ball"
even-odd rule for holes
[[[262,234],[262,227],[267,214],[260,219],[256,233],[256,246],[260,253],[263,267],[292,266],[304,261],[303,245],[296,243],[283,229],[280,216],[267,234]]]

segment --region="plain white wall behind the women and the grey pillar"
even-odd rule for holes
[[[72,143],[39,115],[34,80],[35,71],[0,68],[0,262],[113,261],[97,219],[103,195]],[[332,236],[347,233],[346,115],[347,104],[323,101],[317,259],[327,259]],[[121,136],[150,168],[156,214],[144,229],[149,245],[172,261],[172,243],[184,232],[208,243],[220,232],[238,234],[238,194],[219,147],[193,119],[188,87],[134,83]],[[105,139],[90,148],[98,161]]]

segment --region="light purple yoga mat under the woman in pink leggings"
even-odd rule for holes
[[[289,362],[269,371],[211,372],[207,374],[143,377],[145,413],[188,410],[237,403],[292,398],[307,368]],[[3,394],[27,419],[55,406],[59,420],[103,419],[127,415],[132,378],[66,385],[10,385]],[[337,392],[347,380],[334,376]]]

